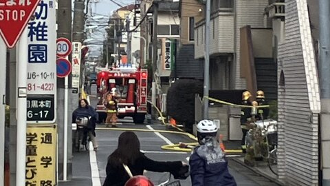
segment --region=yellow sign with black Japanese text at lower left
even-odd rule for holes
[[[56,125],[28,124],[25,185],[56,185]]]

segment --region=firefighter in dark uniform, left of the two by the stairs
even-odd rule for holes
[[[242,93],[242,105],[252,105],[251,101],[251,93],[249,91],[245,91]],[[248,132],[248,122],[251,120],[251,108],[250,107],[242,107],[241,108],[241,130],[243,132],[241,148],[242,152],[246,153],[246,145],[245,145],[245,136]]]

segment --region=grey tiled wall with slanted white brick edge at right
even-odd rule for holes
[[[278,172],[286,185],[318,185],[320,95],[307,0],[287,0],[278,45]]]

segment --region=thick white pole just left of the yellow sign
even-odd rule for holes
[[[19,64],[17,65],[17,159],[16,185],[25,185],[26,152],[26,96],[28,68],[28,28],[24,28],[19,41]]]

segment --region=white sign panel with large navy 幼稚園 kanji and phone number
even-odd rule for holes
[[[1,0],[0,0],[1,1]],[[54,0],[41,0],[28,22],[28,94],[56,97],[56,7]]]

